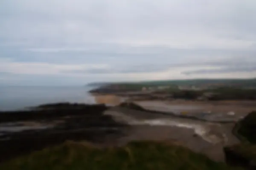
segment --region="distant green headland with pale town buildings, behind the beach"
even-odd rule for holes
[[[133,99],[255,100],[256,79],[166,80],[106,83],[90,91]]]

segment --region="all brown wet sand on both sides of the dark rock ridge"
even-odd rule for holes
[[[112,103],[110,97],[98,95],[103,103]],[[104,99],[104,100],[103,100]],[[115,105],[123,100],[115,98]],[[228,116],[228,112],[234,112],[236,121],[256,110],[256,101],[192,101],[192,100],[149,100],[133,101],[145,109],[162,112],[188,112],[209,113],[217,117]],[[111,115],[117,122],[131,125],[125,132],[125,136],[118,139],[117,144],[125,144],[132,140],[167,140],[175,141],[189,147],[195,152],[206,154],[215,161],[225,161],[223,147],[239,143],[239,139],[233,135],[233,123],[213,123],[156,114],[143,111],[135,111],[128,108],[113,107],[105,114]]]

